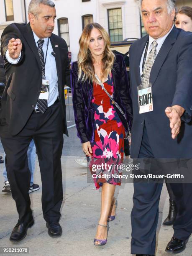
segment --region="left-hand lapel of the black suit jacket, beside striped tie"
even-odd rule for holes
[[[29,23],[27,24],[26,28],[27,28],[26,31],[23,31],[23,37],[26,38],[26,42],[27,42],[28,46],[33,51],[33,53],[36,57],[38,66],[39,66],[39,70],[41,71],[41,61],[40,61],[39,54],[37,51],[37,46],[36,46],[36,42],[35,42],[35,39],[33,36],[33,31],[31,29],[31,26]]]

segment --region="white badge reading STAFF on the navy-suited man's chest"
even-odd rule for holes
[[[148,87],[139,85],[137,87],[138,91],[138,107],[139,107],[139,114],[151,112],[154,110],[153,107],[153,97],[152,97],[152,90],[151,90],[151,83]]]

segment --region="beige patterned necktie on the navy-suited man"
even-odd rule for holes
[[[146,60],[146,63],[143,68],[143,77],[142,77],[142,82],[144,87],[148,87],[149,85],[149,77],[151,73],[151,69],[153,67],[155,58],[156,58],[156,47],[157,47],[157,41],[153,41],[153,48],[148,54],[148,58]]]

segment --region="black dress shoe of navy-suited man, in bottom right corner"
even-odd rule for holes
[[[172,237],[172,240],[167,244],[165,251],[170,252],[170,253],[180,253],[184,251],[187,240],[180,240],[176,237]]]

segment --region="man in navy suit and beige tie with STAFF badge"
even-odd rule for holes
[[[149,36],[136,41],[130,48],[133,100],[131,157],[190,159],[192,33],[174,26],[173,0],[141,0],[141,13]],[[151,90],[152,104],[146,101],[142,105],[142,99],[138,101],[140,85]],[[187,202],[192,196],[192,186],[170,185],[177,197],[178,215],[173,226],[174,235],[166,251],[178,253],[184,250],[192,232],[192,204]],[[131,212],[133,254],[155,253],[161,189],[160,183],[134,183]]]

